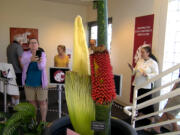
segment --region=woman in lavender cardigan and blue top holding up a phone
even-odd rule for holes
[[[26,100],[36,109],[39,105],[42,121],[46,121],[48,97],[46,54],[43,51],[39,52],[38,47],[37,39],[29,39],[30,50],[24,52],[21,58],[23,65],[22,84],[25,86]]]

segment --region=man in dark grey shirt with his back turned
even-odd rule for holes
[[[22,85],[21,56],[23,54],[23,48],[21,43],[22,37],[20,35],[16,35],[13,42],[7,47],[7,62],[13,65],[16,74],[16,83],[18,84],[18,86]],[[12,97],[12,103],[14,105],[19,103],[19,95],[14,95]]]

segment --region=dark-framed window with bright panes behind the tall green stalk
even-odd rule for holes
[[[95,39],[97,41],[97,21],[88,23],[89,40]],[[112,18],[108,19],[108,45],[107,49],[110,50],[110,44],[112,40]]]

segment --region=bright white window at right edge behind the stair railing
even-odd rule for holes
[[[180,0],[169,0],[165,39],[163,71],[180,63]],[[179,70],[163,77],[162,85],[177,79],[178,74]],[[161,95],[169,92],[171,88],[163,89]],[[166,101],[160,104],[160,109],[164,107]]]

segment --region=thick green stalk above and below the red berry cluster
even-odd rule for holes
[[[108,11],[107,0],[99,0],[97,3],[97,24],[98,24],[98,46],[104,45],[108,48]],[[110,66],[110,65],[108,65]],[[91,69],[92,70],[92,69]],[[92,72],[91,72],[92,73]],[[108,84],[107,84],[108,85]],[[105,129],[103,131],[95,131],[95,135],[110,135],[111,134],[111,107],[110,104],[98,104],[96,103],[96,121],[104,122]]]

